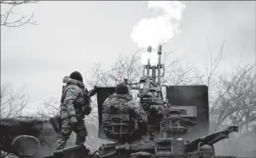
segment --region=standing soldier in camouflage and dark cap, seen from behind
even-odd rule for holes
[[[90,97],[95,95],[96,87],[90,92],[84,88],[83,77],[78,71],[63,78],[63,95],[61,100],[61,127],[57,135],[57,149],[54,153],[62,152],[66,142],[74,131],[76,145],[84,145],[87,130],[84,125],[84,114],[90,114]]]

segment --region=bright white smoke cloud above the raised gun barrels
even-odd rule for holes
[[[151,45],[163,45],[178,34],[182,11],[186,8],[184,4],[177,1],[148,1],[148,9],[163,12],[155,18],[143,18],[133,27],[131,38],[139,48]]]

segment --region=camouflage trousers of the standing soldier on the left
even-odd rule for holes
[[[70,119],[62,119],[62,127],[60,132],[57,134],[57,150],[62,150],[70,134],[74,131],[76,133],[76,145],[84,145],[85,137],[87,136],[87,129],[84,125],[84,119],[78,119],[78,122],[71,124]]]

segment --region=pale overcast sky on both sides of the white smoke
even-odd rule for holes
[[[255,62],[255,1],[184,2],[183,18],[177,34],[163,47],[173,50],[170,58],[183,57],[199,70],[209,62],[209,39],[216,55],[226,45],[218,72],[230,71]],[[1,11],[3,10],[1,6]],[[63,76],[72,71],[85,75],[95,62],[110,66],[120,53],[133,54],[130,38],[133,26],[150,18],[146,2],[40,2],[14,9],[30,15],[38,25],[1,27],[1,83],[15,88],[27,85],[28,110],[42,99],[60,97]]]

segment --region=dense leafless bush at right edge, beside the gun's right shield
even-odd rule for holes
[[[211,111],[215,129],[236,124],[247,131],[256,121],[256,76],[254,66],[237,69],[231,77],[221,76],[219,80],[220,97]],[[224,95],[225,93],[225,95]]]

